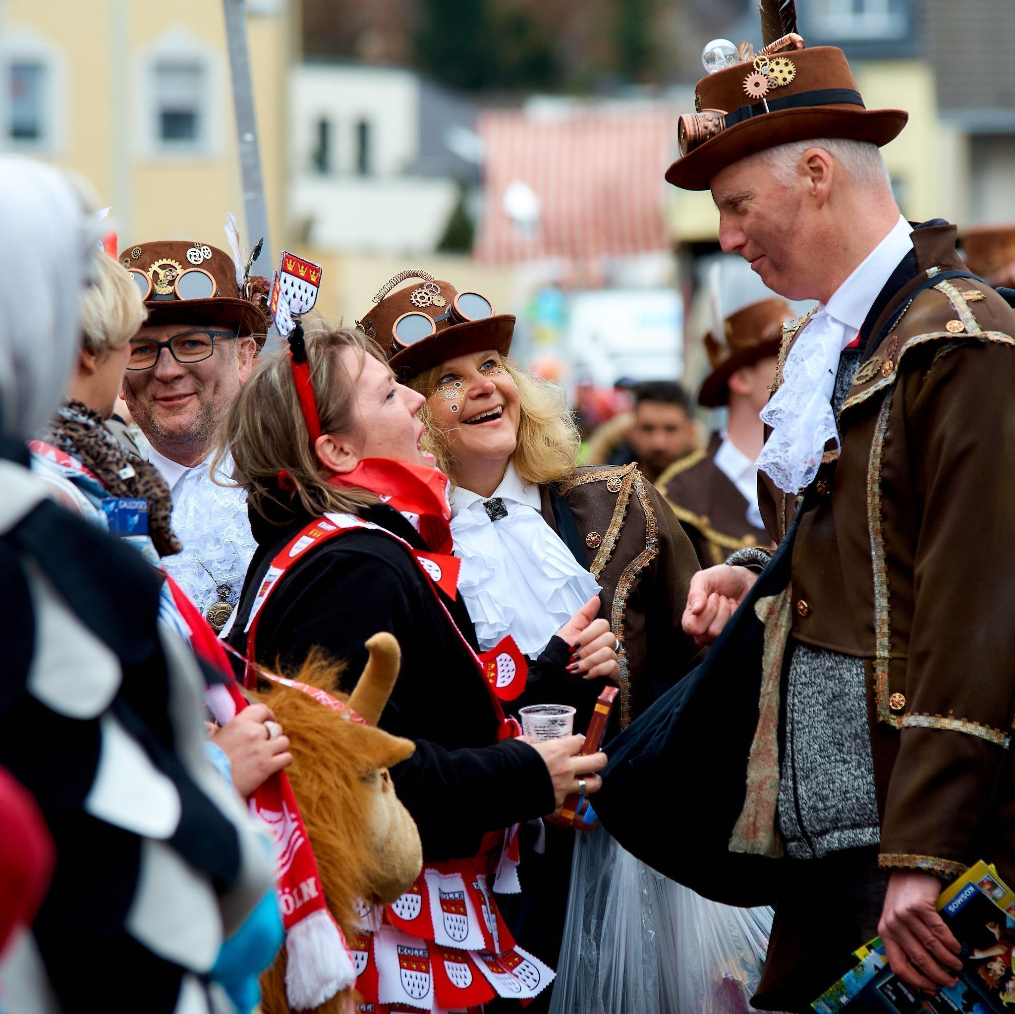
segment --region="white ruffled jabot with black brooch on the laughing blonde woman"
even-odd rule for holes
[[[493,497],[507,512],[497,521],[482,496],[461,487],[452,492],[459,592],[481,650],[510,633],[525,655],[537,656],[600,586],[543,520],[539,487],[526,485],[514,464]]]

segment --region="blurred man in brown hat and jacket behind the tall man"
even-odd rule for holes
[[[758,510],[756,461],[764,443],[758,413],[768,400],[783,323],[791,316],[785,299],[759,299],[726,319],[723,341],[704,336],[712,373],[698,404],[725,405],[726,430],[656,481],[703,567],[722,563],[736,549],[771,544]]]

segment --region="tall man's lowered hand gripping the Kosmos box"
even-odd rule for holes
[[[935,906],[940,893],[941,881],[932,874],[895,870],[878,924],[891,970],[908,986],[929,993],[956,983],[942,964],[955,972],[962,968],[956,957],[962,948]]]

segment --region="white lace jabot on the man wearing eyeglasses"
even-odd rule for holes
[[[210,459],[186,468],[152,448],[149,460],[173,492],[173,531],[184,546],[176,556],[163,556],[162,567],[202,613],[218,601],[216,585],[229,586],[226,600],[235,605],[255,549],[246,491],[212,482]],[[226,458],[220,472],[226,476],[223,481],[231,472],[232,459]]]

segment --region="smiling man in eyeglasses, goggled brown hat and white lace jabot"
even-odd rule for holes
[[[123,397],[173,492],[183,543],[165,569],[220,630],[254,552],[245,493],[218,485],[209,463],[218,425],[264,344],[267,285],[201,243],[166,241],[120,255],[148,319],[131,341]],[[219,481],[228,481],[228,463]]]

